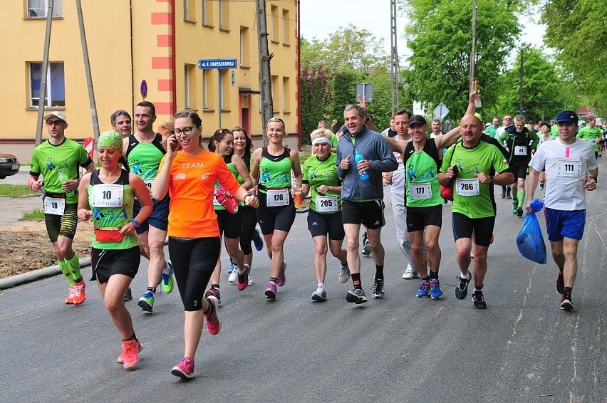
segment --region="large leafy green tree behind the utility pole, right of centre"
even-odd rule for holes
[[[443,102],[459,119],[467,107],[472,1],[408,0],[410,26],[405,29],[413,54],[405,72],[410,98],[425,110]],[[485,105],[497,100],[497,81],[507,70],[508,53],[520,28],[514,1],[477,3],[476,78]]]

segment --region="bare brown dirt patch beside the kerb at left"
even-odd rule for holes
[[[79,222],[73,248],[80,258],[90,256],[93,223]],[[0,231],[0,278],[57,264],[44,220],[16,221]]]

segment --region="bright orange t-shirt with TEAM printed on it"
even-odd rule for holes
[[[166,156],[165,156],[166,157]],[[165,164],[160,161],[160,169]],[[213,208],[215,180],[228,192],[236,194],[240,185],[226,163],[214,152],[202,150],[188,157],[178,151],[170,167],[168,187],[170,236],[209,238],[219,236],[217,215]]]

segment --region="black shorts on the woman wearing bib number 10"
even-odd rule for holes
[[[93,268],[93,277],[100,284],[107,283],[110,276],[124,274],[135,278],[139,270],[141,255],[139,246],[128,249],[90,249],[90,266]]]

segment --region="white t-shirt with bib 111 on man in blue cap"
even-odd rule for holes
[[[577,139],[572,144],[563,144],[560,139],[544,142],[529,167],[538,172],[546,169],[546,207],[563,211],[586,209],[583,185],[588,171],[597,167],[589,142]]]

